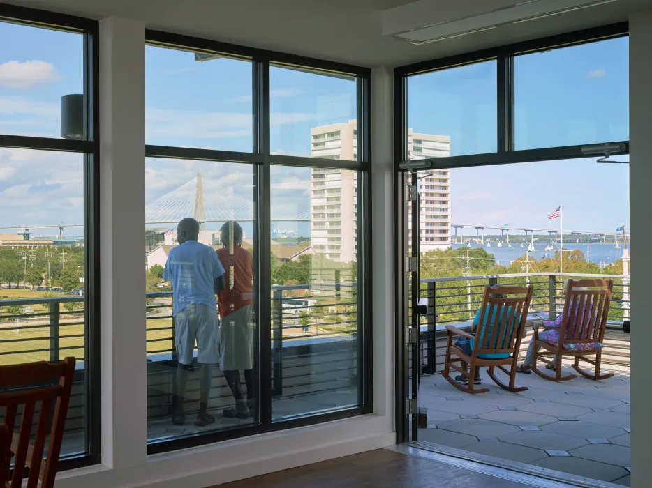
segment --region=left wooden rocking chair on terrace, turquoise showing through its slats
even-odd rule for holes
[[[501,388],[517,392],[524,391],[526,386],[515,386],[517,372],[518,351],[521,340],[525,336],[525,323],[528,317],[530,301],[532,300],[533,287],[504,286],[484,290],[484,299],[480,309],[475,336],[459,330],[454,326],[446,326],[448,343],[446,360],[442,376],[458,390],[468,393],[486,393],[489,388],[473,388],[473,375],[475,368],[489,367],[489,377]],[[506,295],[507,298],[494,298],[493,295]],[[473,340],[471,355],[461,351],[453,344],[453,336],[467,337]],[[453,358],[452,355],[457,356]],[[468,371],[455,363],[467,363]],[[510,366],[510,369],[505,369]],[[509,384],[502,383],[494,373],[494,368],[510,375]],[[468,378],[468,386],[461,386],[450,376],[450,369],[454,369]]]

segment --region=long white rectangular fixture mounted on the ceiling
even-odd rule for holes
[[[526,0],[489,12],[450,18],[452,16],[445,12],[441,3],[421,0],[385,10],[383,36],[393,36],[417,45],[434,43],[438,40],[496,29],[505,24],[519,24],[614,1],[617,0]],[[424,20],[428,18],[439,19],[440,22],[426,24]]]

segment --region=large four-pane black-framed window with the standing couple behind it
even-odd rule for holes
[[[148,452],[369,412],[369,72],[147,37]]]

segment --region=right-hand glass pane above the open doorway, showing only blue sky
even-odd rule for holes
[[[514,57],[514,149],[628,140],[628,59],[626,37]]]

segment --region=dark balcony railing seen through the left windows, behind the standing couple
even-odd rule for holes
[[[145,294],[148,419],[170,415],[177,351],[172,292]],[[272,287],[272,395],[295,397],[357,386],[356,283]],[[84,422],[84,297],[0,300],[0,364],[77,358],[67,430]],[[135,318],[138,322],[138,318]],[[223,373],[212,369],[210,402],[232,402]],[[188,383],[194,400],[198,384]],[[145,393],[145,392],[144,392]],[[188,406],[193,409],[193,406]]]

